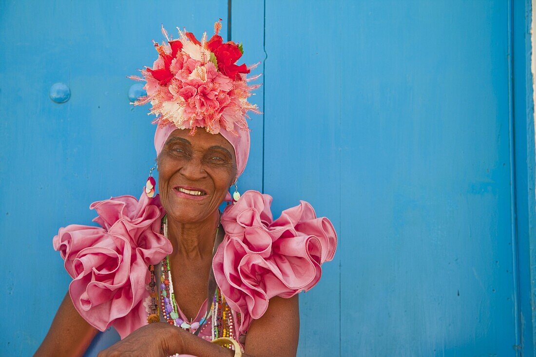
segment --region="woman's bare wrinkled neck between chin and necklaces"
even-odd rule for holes
[[[189,259],[212,258],[212,249],[216,229],[220,223],[220,212],[215,210],[205,220],[193,223],[182,223],[168,215],[168,239],[172,243],[173,252],[170,257]]]

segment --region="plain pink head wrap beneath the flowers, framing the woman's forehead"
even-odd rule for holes
[[[168,124],[168,125],[157,125],[157,131],[154,133],[154,148],[157,150],[157,155],[160,154],[162,151],[162,148],[164,147],[164,144],[166,144],[166,140],[169,137],[169,135],[175,130],[177,127],[174,124]],[[245,169],[245,164],[248,162],[249,157],[249,145],[250,145],[250,138],[249,138],[249,131],[247,130],[240,130],[239,131],[240,136],[235,136],[232,133],[228,132],[224,128],[220,129],[220,134],[223,136],[227,141],[233,145],[234,151],[235,151],[235,158],[236,158],[236,179],[242,175]],[[230,195],[227,194],[226,200],[230,201],[232,198],[230,198]]]

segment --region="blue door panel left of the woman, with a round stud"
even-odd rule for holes
[[[17,315],[0,322],[0,349],[26,356],[70,281],[52,237],[89,224],[95,200],[139,197],[153,165],[155,127],[148,107],[129,105],[126,76],[154,61],[162,23],[200,37],[222,18],[225,37],[227,1],[2,1],[0,17],[0,236],[11,244],[0,305]],[[71,90],[61,105],[48,97],[58,81]]]

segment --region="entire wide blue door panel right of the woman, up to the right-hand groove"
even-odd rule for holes
[[[515,355],[508,24],[498,1],[266,4],[265,190],[341,242],[340,329],[328,264],[302,352]]]

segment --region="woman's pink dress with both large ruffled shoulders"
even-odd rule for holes
[[[307,202],[287,209],[273,220],[272,197],[246,191],[221,215],[225,237],[212,267],[217,285],[234,315],[236,336],[247,333],[274,296],[290,298],[308,291],[331,261],[337,234],[330,220],[317,218]],[[90,205],[100,227],[60,228],[53,246],[73,278],[69,294],[78,313],[94,328],[114,326],[121,339],[147,324],[150,271],[172,252],[160,234],[165,214],[159,195],[139,200],[112,197]],[[158,269],[155,269],[158,271]],[[200,308],[199,321],[207,308]],[[181,317],[185,319],[180,311]],[[199,336],[210,340],[211,321]]]

